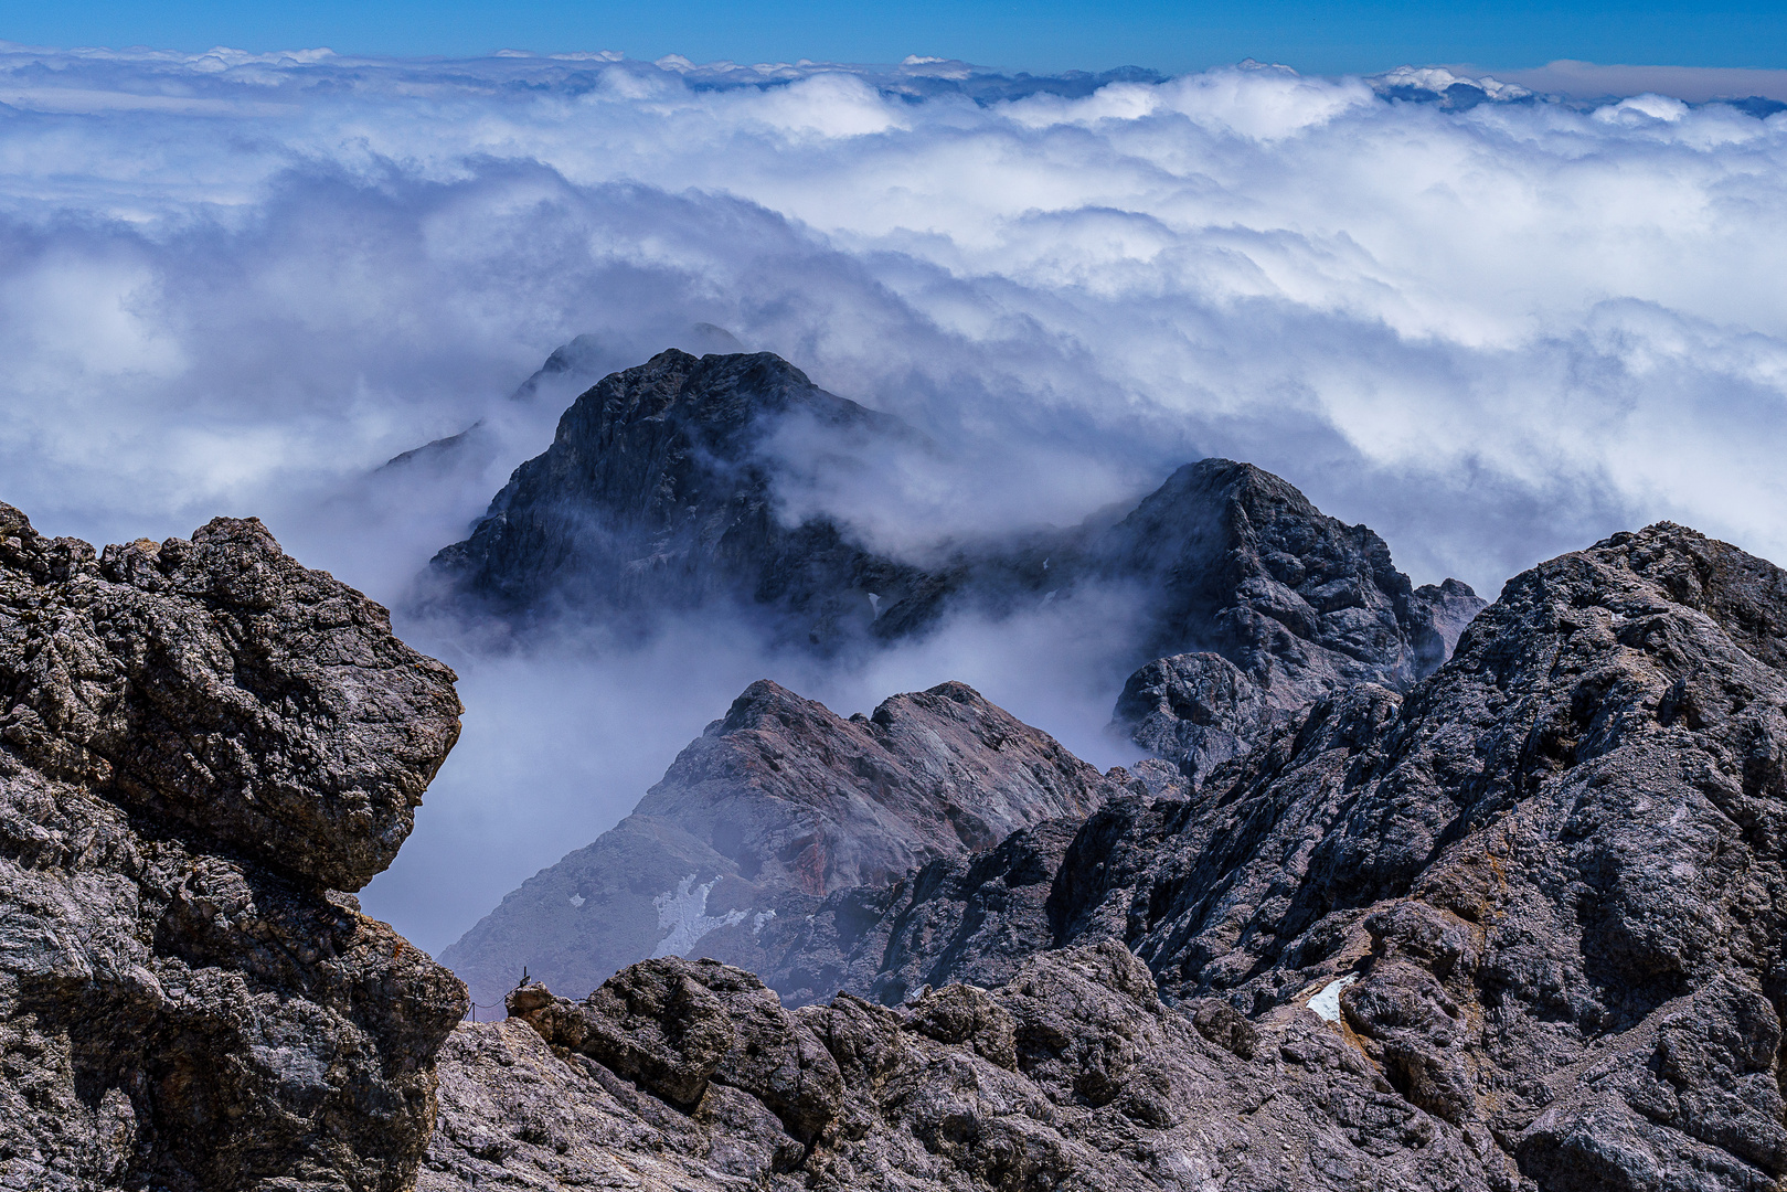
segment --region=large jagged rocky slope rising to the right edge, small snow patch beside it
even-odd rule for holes
[[[1655,525],[1505,588],[1406,697],[1360,686],[1188,801],[1117,801],[1060,940],[1172,1001],[1326,990],[1410,1104],[1542,1188],[1787,1176],[1787,574]]]

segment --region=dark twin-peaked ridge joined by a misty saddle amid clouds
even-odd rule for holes
[[[668,350],[579,397],[434,574],[524,631],[570,617],[625,638],[731,606],[820,652],[924,633],[956,608],[997,617],[1117,584],[1140,602],[1117,665],[1158,659],[1129,679],[1117,722],[1194,783],[1340,684],[1406,688],[1483,604],[1455,579],[1412,588],[1374,533],[1226,459],[1179,468],[1113,525],[935,543],[919,567],[826,516],[783,524],[777,481],[799,465],[765,443],[793,424],[827,441],[913,438],[776,356]]]

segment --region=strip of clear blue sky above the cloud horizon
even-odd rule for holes
[[[1303,71],[1378,71],[1403,63],[1539,66],[1555,59],[1676,66],[1787,66],[1780,0],[1617,4],[1312,4],[1276,0],[1045,0],[822,4],[817,0],[0,0],[0,39],[48,46],[206,50],[331,46],[393,55],[497,48],[622,50],[654,59],[886,63],[908,54],[1008,70],[1181,71],[1244,57]]]

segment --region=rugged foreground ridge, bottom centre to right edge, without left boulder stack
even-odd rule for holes
[[[1615,534],[1408,692],[868,908],[997,985],[910,986],[895,928],[826,1004],[674,956],[513,990],[418,1187],[1778,1188],[1783,808],[1787,572]]]

